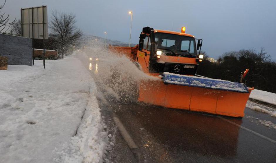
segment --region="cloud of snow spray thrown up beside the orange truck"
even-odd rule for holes
[[[155,80],[145,74],[123,54],[110,52],[107,48],[85,48],[77,55],[92,73],[107,102],[133,104],[138,98],[137,84],[141,80]]]

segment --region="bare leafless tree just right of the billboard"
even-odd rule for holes
[[[72,13],[52,13],[50,28],[53,32],[53,37],[59,42],[59,51],[62,58],[64,53],[70,48],[78,45],[78,40],[82,36],[82,32],[75,26],[76,16]]]

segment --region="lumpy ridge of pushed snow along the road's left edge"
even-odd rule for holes
[[[102,122],[101,114],[95,93],[95,84],[90,87],[90,100],[88,102],[82,123],[77,134],[71,138],[69,146],[62,151],[55,151],[60,155],[55,162],[102,162],[110,145],[105,124]]]

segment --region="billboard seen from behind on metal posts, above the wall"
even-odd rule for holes
[[[44,46],[45,39],[48,39],[47,6],[21,8],[21,36],[32,39],[43,39],[43,65],[45,68]]]

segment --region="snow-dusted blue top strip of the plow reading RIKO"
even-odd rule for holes
[[[196,76],[178,75],[172,73],[163,73],[162,76],[164,83],[167,84],[249,93],[246,85],[238,82],[230,82],[227,80],[218,80]]]

